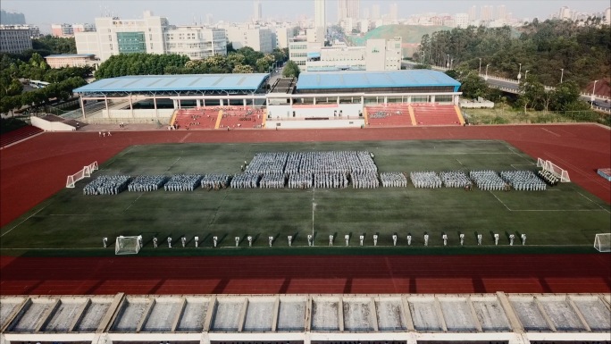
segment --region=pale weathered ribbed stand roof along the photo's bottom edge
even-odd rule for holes
[[[608,343],[605,294],[7,296],[6,343]]]

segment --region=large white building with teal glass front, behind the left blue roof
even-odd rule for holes
[[[102,62],[130,53],[179,54],[191,59],[227,54],[222,29],[176,27],[150,12],[136,20],[96,18],[95,32],[75,32],[74,38],[79,54],[94,54]]]

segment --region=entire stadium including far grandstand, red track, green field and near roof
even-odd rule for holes
[[[49,130],[4,146],[0,339],[609,341],[611,263],[593,247],[597,234],[610,227],[611,189],[597,174],[611,156],[608,128],[463,126],[455,108],[458,85],[451,80],[433,85],[422,77],[402,85],[372,76],[359,81],[356,74],[304,77],[279,80],[270,92],[265,75],[234,80],[230,84],[244,88],[231,95],[227,87],[209,88],[210,80],[198,95],[169,88],[201,80],[93,83],[78,90],[84,109],[94,100],[116,98],[91,113],[81,110],[78,130]],[[144,89],[143,79],[168,88]],[[113,82],[140,85],[134,92],[149,92],[154,112],[143,108],[150,103],[144,94],[137,98],[125,83],[113,89]],[[443,89],[422,95],[422,88],[437,87]],[[161,92],[176,96],[157,103],[167,96]],[[126,103],[128,109],[111,108]],[[163,113],[155,104],[169,108]],[[444,108],[451,112],[437,111]],[[157,121],[161,128],[150,123]],[[168,130],[176,121],[176,129]],[[355,128],[345,128],[348,122]],[[102,130],[113,135],[102,137]],[[316,172],[307,179],[312,187],[289,188],[297,173],[287,168],[290,156],[312,155],[307,161],[318,162],[339,152],[352,156],[341,155],[342,161],[358,156],[363,166],[375,166],[377,187],[354,187],[357,180],[371,181],[359,179],[358,165],[339,174],[347,176],[347,188],[330,187],[333,177],[315,184]],[[256,170],[261,179],[254,188],[203,183],[205,176],[236,180],[257,166],[271,169],[279,159],[284,167],[273,171],[286,179],[264,179],[267,172]],[[484,189],[474,180],[470,190],[463,184],[428,189],[416,187],[410,174],[470,177],[483,170],[498,176],[548,171],[558,179],[570,176],[570,182],[549,184],[545,191]],[[406,184],[384,186],[386,173],[403,175]],[[166,191],[163,185],[131,191],[124,185],[117,194],[85,194],[103,176],[133,181],[163,175],[169,181],[196,174],[192,191]],[[73,188],[66,188],[67,176]],[[283,187],[262,188],[262,181]],[[137,256],[115,256],[121,236],[142,237],[132,241]],[[598,248],[605,245],[598,241]]]

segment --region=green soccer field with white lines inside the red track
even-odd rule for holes
[[[406,247],[411,234],[412,246],[422,249],[423,236],[429,234],[431,249],[459,247],[459,234],[465,246],[476,246],[477,233],[483,246],[508,245],[515,234],[527,235],[527,246],[592,247],[596,233],[610,228],[610,209],[604,202],[573,183],[563,183],[547,191],[473,191],[464,189],[222,189],[192,192],[124,191],[116,196],[83,196],[83,187],[102,174],[239,173],[240,165],[258,152],[366,150],[375,155],[379,172],[409,172],[491,169],[532,170],[535,161],[503,141],[426,140],[281,144],[168,144],[133,146],[114,156],[90,179],[80,180],[75,189],[62,189],[28,214],[2,228],[2,250],[43,251],[87,250],[102,247],[107,237],[113,247],[119,235],[142,235],[145,250],[151,240],[159,239],[155,254],[176,254],[180,238],[187,238],[194,249],[212,251],[213,236],[222,248],[246,248],[247,236],[254,247],[287,248],[287,236],[294,247],[306,247],[307,235],[314,231],[314,246],[372,247],[374,234],[379,247]],[[313,204],[315,208],[313,211]],[[172,237],[173,248],[166,239]],[[191,253],[195,253],[191,249]],[[334,248],[328,248],[334,249]],[[337,248],[339,249],[339,248]],[[380,248],[385,249],[385,248]],[[388,248],[389,251],[392,248]],[[547,249],[547,248],[546,248]],[[238,251],[238,250],[236,250]],[[255,251],[255,250],[253,250]],[[173,252],[173,253],[172,253]]]

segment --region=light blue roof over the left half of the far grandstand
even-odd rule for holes
[[[269,74],[137,75],[97,80],[74,89],[87,92],[257,90]]]

